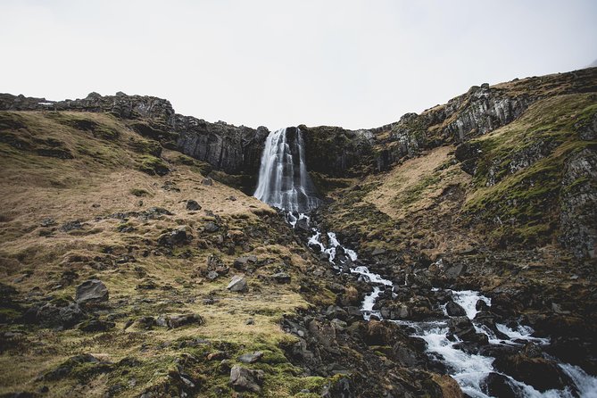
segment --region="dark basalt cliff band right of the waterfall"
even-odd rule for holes
[[[595,91],[597,69],[576,70],[491,87],[474,86],[447,104],[421,114],[407,113],[397,122],[377,129],[313,128],[313,137],[317,137],[311,140],[313,149],[319,145],[326,153],[311,155],[310,168],[330,176],[389,170],[396,162],[422,151],[458,145],[499,129],[517,120],[540,99]],[[585,130],[587,137],[593,137],[592,126]]]

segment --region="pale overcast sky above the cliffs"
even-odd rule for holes
[[[583,68],[596,21],[594,0],[0,0],[0,92],[371,128],[472,85]]]

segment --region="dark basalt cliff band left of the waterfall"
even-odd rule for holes
[[[174,112],[170,101],[165,99],[121,92],[105,96],[91,93],[83,99],[57,102],[0,94],[0,110],[109,112],[121,119],[139,120],[130,123],[137,133],[228,174],[256,174],[269,133],[264,127],[250,129],[183,116]]]

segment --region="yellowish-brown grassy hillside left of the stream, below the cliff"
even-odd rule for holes
[[[302,377],[280,348],[294,339],[282,316],[309,305],[299,294],[309,256],[268,206],[206,179],[203,167],[109,114],[0,112],[0,394],[229,395],[230,367],[255,351],[261,361],[247,366],[265,371],[264,396],[326,384]],[[189,200],[201,209],[187,210]],[[180,228],[184,239],[160,240]],[[290,283],[270,278],[280,271]],[[248,292],[226,289],[235,274]],[[23,321],[31,305],[65,308],[94,278],[109,300],[75,325]],[[173,314],[204,323],[155,325]],[[107,331],[81,330],[90,322]],[[77,359],[87,353],[99,362]]]

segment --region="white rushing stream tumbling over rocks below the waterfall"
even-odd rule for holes
[[[289,220],[291,225],[296,224],[298,220],[308,219],[308,216],[299,214],[298,217],[292,216]],[[341,266],[344,263],[338,264],[336,261],[336,251],[340,248],[344,251],[346,256],[350,258],[350,271],[355,274],[359,280],[365,281],[372,286],[372,291],[365,295],[361,303],[361,313],[363,319],[369,320],[372,317],[376,319],[383,319],[380,311],[375,311],[373,308],[377,302],[377,298],[385,289],[394,289],[394,284],[391,280],[382,278],[375,272],[369,271],[365,266],[352,264],[356,261],[357,253],[351,249],[344,247],[338,242],[336,234],[328,232],[328,245],[324,245],[321,241],[321,232],[313,228],[313,236],[309,239],[308,245],[310,247],[318,246],[322,253],[327,253],[328,261],[331,266],[341,271]],[[439,290],[435,287],[434,290]],[[446,289],[448,290],[448,289]],[[533,342],[540,346],[550,344],[549,339],[533,336],[534,330],[524,325],[517,325],[515,328],[509,328],[504,324],[497,323],[495,326],[501,333],[501,338],[484,325],[475,321],[477,315],[477,302],[483,301],[488,307],[491,307],[491,299],[485,297],[472,290],[451,291],[452,300],[464,309],[466,317],[473,322],[477,333],[483,333],[487,336],[489,344],[493,345],[511,345],[523,346],[528,342]],[[502,377],[506,377],[507,383],[510,385],[511,391],[518,397],[526,398],[556,398],[556,397],[597,397],[597,377],[588,375],[583,369],[570,365],[568,363],[558,363],[560,369],[570,377],[576,385],[576,391],[571,391],[566,388],[564,390],[548,390],[545,392],[537,391],[533,386],[528,386],[518,380],[502,374],[493,368],[493,357],[484,356],[475,353],[468,353],[458,348],[458,344],[462,341],[458,336],[453,336],[450,333],[448,321],[450,318],[446,311],[445,305],[442,306],[444,311],[444,319],[434,319],[425,321],[411,321],[411,320],[394,320],[388,319],[408,330],[412,331],[411,336],[420,337],[427,343],[427,354],[439,359],[444,363],[450,376],[452,376],[460,385],[460,388],[465,394],[473,398],[488,398],[484,390],[483,381],[492,373],[497,373]],[[511,325],[510,325],[511,326]],[[505,338],[507,337],[507,338]]]

